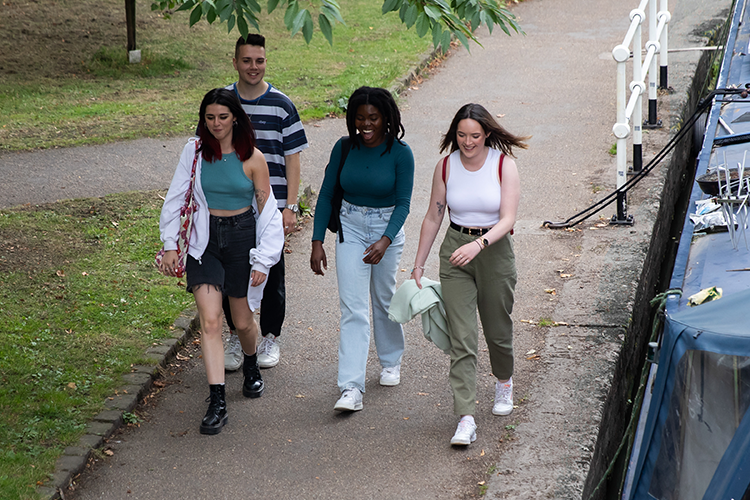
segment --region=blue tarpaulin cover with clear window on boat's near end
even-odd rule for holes
[[[636,499],[748,498],[750,290],[667,314]]]

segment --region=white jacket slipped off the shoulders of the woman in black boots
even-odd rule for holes
[[[159,218],[159,231],[161,240],[164,242],[164,250],[177,250],[177,238],[180,231],[180,209],[185,204],[185,193],[190,186],[190,173],[193,169],[193,158],[197,139],[191,137],[182,150],[180,162],[177,164],[172,183],[164,199]],[[206,195],[201,185],[202,157],[198,156],[195,167],[195,187],[193,194],[198,204],[198,210],[193,214],[193,230],[190,233],[190,247],[188,254],[195,260],[201,260],[203,252],[208,246],[209,216]],[[250,265],[253,271],[258,271],[268,276],[268,270],[281,258],[284,249],[284,229],[281,212],[276,208],[276,198],[273,191],[268,195],[268,200],[263,207],[263,212],[258,213],[258,204],[253,199],[253,210],[255,210],[255,248],[250,250]],[[260,307],[263,297],[263,289],[266,282],[260,286],[248,286],[247,303],[251,311]]]

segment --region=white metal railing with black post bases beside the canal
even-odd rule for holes
[[[643,132],[642,128],[660,127],[656,117],[656,54],[660,56],[661,87],[667,88],[668,68],[668,25],[671,15],[668,0],[660,0],[660,10],[656,10],[657,0],[641,0],[637,9],[630,12],[630,26],[622,44],[612,50],[612,57],[617,61],[617,123],[612,132],[617,138],[617,189],[627,182],[627,140],[630,137],[630,122],[633,122],[633,172],[638,173],[643,167]],[[646,8],[649,15],[649,39],[646,42],[646,55],[641,60],[643,46],[641,25],[646,19]],[[633,58],[633,79],[630,82],[630,96],[627,95],[627,61]],[[646,90],[645,78],[648,77],[649,113],[648,120],[643,122],[642,95]],[[627,215],[625,193],[618,193],[617,215],[612,222],[632,224],[632,216]]]

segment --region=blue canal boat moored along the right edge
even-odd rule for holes
[[[746,3],[733,7],[717,89],[750,84]],[[717,95],[705,130],[623,500],[750,500],[747,94]],[[710,207],[723,225],[704,223]]]

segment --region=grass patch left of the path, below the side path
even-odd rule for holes
[[[0,491],[34,498],[192,303],[154,270],[155,192],[0,211]]]

